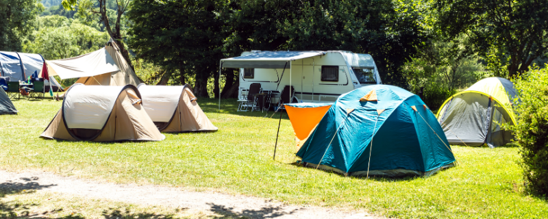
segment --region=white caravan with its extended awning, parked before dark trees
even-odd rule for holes
[[[240,68],[244,92],[251,83],[273,93],[293,86],[299,102],[334,102],[340,94],[381,83],[373,57],[349,51],[246,51],[221,60],[221,68]]]

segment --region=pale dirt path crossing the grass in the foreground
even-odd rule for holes
[[[62,177],[51,172],[8,172],[0,170],[0,188],[59,192],[88,198],[105,198],[137,205],[164,205],[195,211],[231,213],[249,218],[368,218],[364,213],[325,207],[284,205],[278,201],[216,192],[189,192],[156,185],[98,183]]]

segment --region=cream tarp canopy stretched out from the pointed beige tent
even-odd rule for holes
[[[64,60],[47,60],[46,63],[49,66],[49,75],[58,75],[61,79],[92,77],[120,70],[104,47]]]

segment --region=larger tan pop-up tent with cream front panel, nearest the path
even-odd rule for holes
[[[165,138],[142,107],[135,86],[84,86],[82,83],[69,88],[61,110],[40,136],[94,142]]]

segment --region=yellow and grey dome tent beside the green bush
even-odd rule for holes
[[[449,97],[436,117],[451,144],[501,146],[514,138],[501,125],[516,124],[512,110],[516,96],[512,81],[500,77],[482,79]]]

